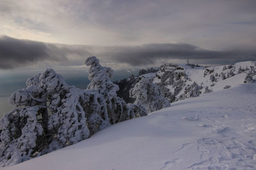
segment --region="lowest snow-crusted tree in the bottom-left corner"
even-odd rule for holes
[[[10,166],[31,157],[45,145],[44,125],[38,120],[40,107],[15,108],[1,118],[0,164]]]

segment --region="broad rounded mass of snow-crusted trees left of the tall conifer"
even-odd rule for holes
[[[69,87],[53,69],[26,81],[10,97],[16,108],[1,119],[1,166],[23,162],[88,138],[84,90]],[[88,97],[89,98],[89,97]],[[83,100],[81,100],[83,99]]]

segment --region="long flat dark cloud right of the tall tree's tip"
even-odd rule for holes
[[[99,53],[101,56],[108,57],[120,63],[126,63],[131,66],[147,66],[154,64],[157,60],[168,59],[195,59],[204,60],[211,64],[214,60],[216,63],[234,62],[242,60],[255,60],[255,50],[226,50],[213,51],[204,50],[198,46],[186,43],[165,43],[165,44],[148,44],[142,46],[108,46]]]

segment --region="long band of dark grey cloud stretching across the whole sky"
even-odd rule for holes
[[[83,60],[96,55],[105,62],[130,66],[154,65],[159,60],[196,59],[211,64],[255,60],[255,50],[204,50],[186,43],[155,43],[141,46],[84,46],[58,45],[0,37],[0,69],[24,67],[43,61],[56,62],[60,66],[83,64]]]

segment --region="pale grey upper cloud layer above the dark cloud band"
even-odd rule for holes
[[[58,43],[186,42],[214,50],[256,47],[255,9],[255,0],[2,0],[0,21],[8,25],[3,34],[16,38],[22,28],[28,39]]]

